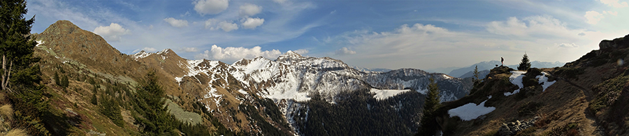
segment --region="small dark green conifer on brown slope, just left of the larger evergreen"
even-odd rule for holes
[[[124,120],[122,120],[122,114],[120,114],[120,105],[112,98],[101,96],[100,111],[117,126],[124,126]]]

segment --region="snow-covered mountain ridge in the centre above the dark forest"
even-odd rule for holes
[[[164,52],[168,51],[138,52],[131,56],[142,61],[151,58],[151,55],[157,55],[154,58],[164,59],[164,63],[169,63]],[[210,110],[223,111],[221,108],[226,107],[220,105],[220,102],[231,97],[236,99],[233,100],[235,103],[254,101],[254,96],[270,98],[280,107],[280,112],[293,128],[298,126],[291,121],[292,111],[303,108],[297,103],[306,102],[315,95],[328,103],[336,103],[340,93],[360,90],[386,90],[370,91],[375,93],[374,98],[383,95],[396,96],[404,92],[398,90],[404,89],[425,94],[428,79],[431,77],[440,85],[443,101],[461,98],[471,89],[469,81],[442,73],[427,73],[410,68],[386,73],[361,71],[337,59],[305,57],[291,51],[275,60],[257,57],[241,59],[231,65],[205,59],[173,63],[180,66],[180,70],[184,70],[184,74],[172,73],[174,81],[180,84],[180,88],[194,89],[189,85],[190,82],[203,84],[198,86],[204,90],[204,93],[201,92],[203,97],[200,101],[205,102]]]

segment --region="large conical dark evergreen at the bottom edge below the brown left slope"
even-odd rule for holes
[[[168,114],[163,99],[166,94],[159,85],[155,71],[150,71],[145,80],[140,82],[136,93],[136,111],[141,116],[133,116],[136,124],[140,125],[140,130],[144,135],[177,135],[174,132],[171,121],[172,116]]]

